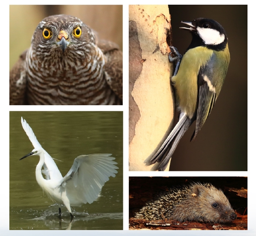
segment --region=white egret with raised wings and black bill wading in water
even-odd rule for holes
[[[37,183],[52,201],[58,203],[59,214],[61,215],[60,207],[63,204],[73,219],[70,206],[91,204],[100,196],[101,188],[109,177],[116,176],[118,167],[113,161],[115,158],[111,157],[111,154],[80,155],[74,160],[68,174],[62,177],[54,160],[37,141],[26,120],[23,121],[21,118],[21,124],[34,149],[20,160],[34,155],[40,157],[36,167]]]

